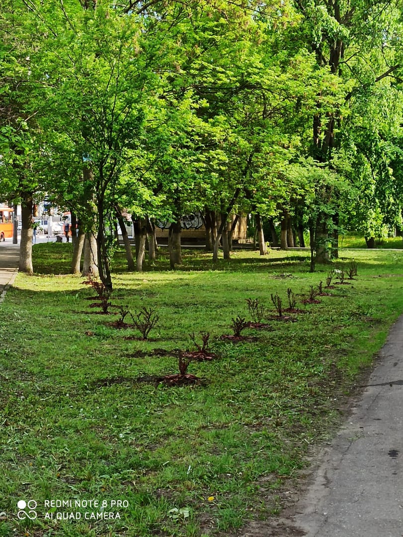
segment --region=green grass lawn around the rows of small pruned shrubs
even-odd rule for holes
[[[70,248],[34,246],[36,274],[19,274],[0,306],[1,536],[242,534],[249,519],[279,511],[284,482],[292,488],[310,446],[338,422],[403,310],[399,251],[343,251],[338,264],[355,259],[358,277],[307,306],[303,295],[331,268],[310,274],[307,252],[237,252],[213,267],[210,254],[185,250],[179,270],[163,254],[137,274],[119,251],[112,302],[160,318],[148,341],[127,340],[138,332],[107,326],[117,316],[94,313],[93,291],[66,274]],[[231,318],[250,319],[247,298],[272,310],[270,294],[287,306],[289,287],[309,311],[297,322],[246,330],[254,343],[218,339]],[[190,364],[201,385],[136,381],[178,372],[176,358],[152,349],[192,349],[199,331],[219,355]],[[20,499],[36,501],[36,519],[17,518]],[[85,520],[102,507],[50,509],[52,499],[96,499],[120,518]]]

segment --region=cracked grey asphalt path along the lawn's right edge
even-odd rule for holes
[[[342,430],[320,456],[295,526],[306,537],[403,535],[403,317]]]

